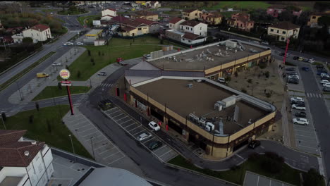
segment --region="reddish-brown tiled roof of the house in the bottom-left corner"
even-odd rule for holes
[[[26,131],[0,130],[0,166],[27,167],[44,147],[44,142],[18,142]]]

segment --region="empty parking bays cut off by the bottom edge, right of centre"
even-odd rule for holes
[[[244,186],[293,186],[286,182],[267,178],[263,175],[258,175],[250,171],[246,171],[244,178]]]

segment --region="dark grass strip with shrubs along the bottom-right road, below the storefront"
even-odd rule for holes
[[[243,185],[245,171],[251,171],[253,173],[264,175],[269,178],[274,178],[276,180],[281,180],[283,182],[288,182],[293,185],[300,185],[299,173],[302,173],[302,171],[293,169],[290,166],[286,165],[286,163],[283,163],[280,173],[271,174],[265,172],[261,167],[261,162],[262,159],[264,158],[265,158],[264,155],[262,155],[255,162],[247,160],[243,164],[238,166],[235,170],[229,170],[229,171],[212,171],[212,170],[198,168],[194,166],[192,163],[189,163],[187,160],[185,160],[181,155],[178,155],[175,158],[171,159],[168,163],[171,163],[176,166],[181,166],[183,168],[188,168],[200,173],[204,173],[206,175],[211,175],[216,178],[227,180],[229,182],[234,182],[240,185]]]

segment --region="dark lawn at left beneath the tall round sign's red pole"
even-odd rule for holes
[[[66,125],[61,123],[61,114],[66,114],[70,107],[68,105],[50,106],[47,108],[41,108],[39,111],[23,111],[17,113],[14,116],[8,117],[6,120],[7,130],[27,130],[25,137],[32,140],[46,142],[50,146],[63,149],[65,151],[72,152],[71,141],[68,135],[72,135],[73,147],[75,153],[80,156],[85,156],[92,159],[92,156],[88,153],[85,147],[75,138],[75,136],[66,128]],[[30,116],[34,116],[33,123],[29,122]],[[51,132],[47,125],[49,126]],[[4,126],[0,126],[4,129]]]

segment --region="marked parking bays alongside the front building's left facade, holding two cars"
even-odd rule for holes
[[[130,118],[130,116],[128,116],[126,113],[124,113],[123,111],[121,111],[121,109],[118,109],[117,107],[105,111],[105,113],[107,116],[109,116],[109,118],[114,120],[115,123],[121,126],[123,130],[126,130],[126,132],[128,132],[128,134],[130,134],[134,139],[136,139],[140,134],[144,132],[150,132],[147,128],[145,128],[145,126],[141,125],[141,123],[136,122],[133,118]],[[152,137],[141,142],[141,144],[147,149],[150,143],[161,141],[159,137],[156,137],[156,135],[154,135],[154,132],[151,133]],[[178,153],[176,151],[173,151],[171,147],[169,147],[164,142],[162,143],[163,145],[161,147],[152,151],[150,150],[152,154],[154,154],[154,156],[157,156],[160,161],[166,162],[178,155]]]

